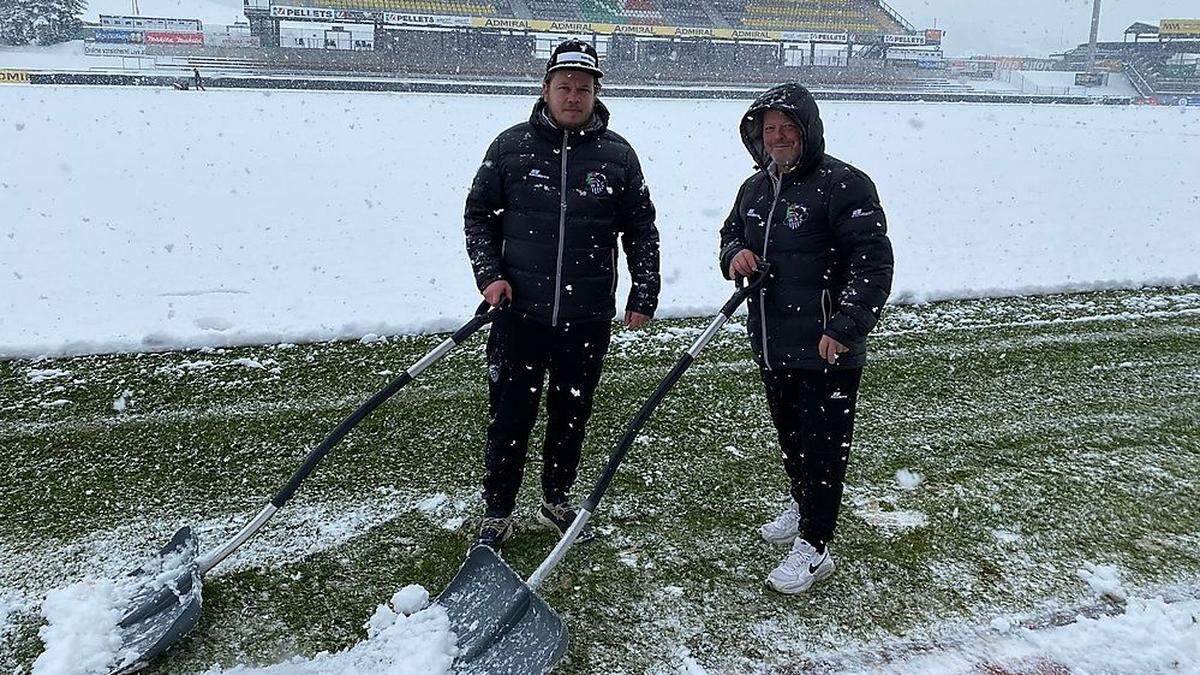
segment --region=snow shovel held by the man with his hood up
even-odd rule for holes
[[[575,522],[568,528],[558,545],[541,566],[522,581],[521,577],[490,546],[476,545],[467,554],[467,561],[450,585],[437,599],[450,617],[450,626],[458,639],[456,673],[547,673],[566,653],[566,625],[546,601],[538,596],[538,589],[551,571],[566,555],[566,549],[595,513],[625,453],[634,444],[642,425],[662,402],[667,392],[683,377],[700,352],[716,335],[721,325],[733,316],[739,305],[766,281],[768,267],[761,262],[757,274],[746,283],[738,280],[738,288],[720,313],[691,347],[679,357],[671,372],[659,382],[650,398],[620,437],[608,458],[600,480],[592,495],[583,502]]]

